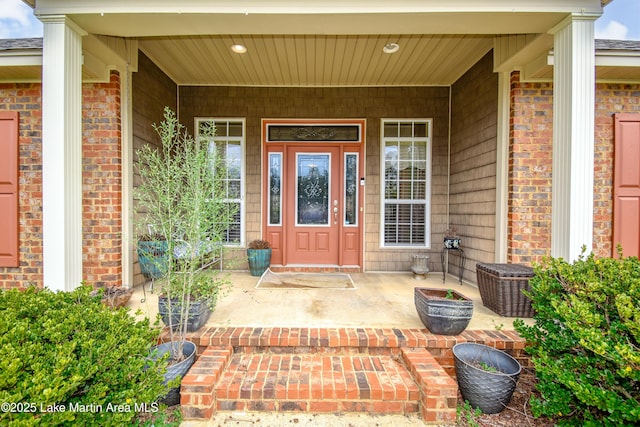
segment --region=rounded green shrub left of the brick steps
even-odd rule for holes
[[[0,425],[122,426],[159,410],[158,331],[90,292],[0,292]]]

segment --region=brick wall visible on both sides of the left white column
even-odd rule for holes
[[[0,287],[42,286],[42,86],[0,85],[0,109],[20,113],[20,267],[0,268]],[[82,86],[83,279],[121,284],[120,79]]]

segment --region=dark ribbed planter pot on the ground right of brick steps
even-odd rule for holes
[[[485,414],[502,411],[516,389],[520,363],[504,351],[476,343],[456,344],[453,357],[463,399]]]

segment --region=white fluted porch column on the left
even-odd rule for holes
[[[65,16],[41,17],[44,286],[82,281],[82,36]]]

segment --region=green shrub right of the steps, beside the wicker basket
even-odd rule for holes
[[[535,324],[516,330],[532,355],[534,415],[561,424],[640,424],[640,261],[546,259],[530,281]]]

